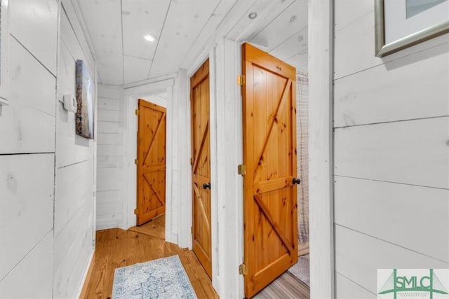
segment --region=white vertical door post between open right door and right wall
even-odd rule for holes
[[[333,4],[309,0],[308,22],[310,297],[330,299],[335,298]]]

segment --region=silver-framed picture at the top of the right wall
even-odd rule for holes
[[[449,0],[375,0],[377,57],[448,32]]]

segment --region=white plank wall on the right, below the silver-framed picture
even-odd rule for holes
[[[336,298],[378,268],[449,267],[449,36],[382,59],[373,1],[335,1]]]

